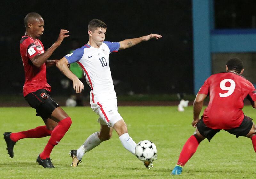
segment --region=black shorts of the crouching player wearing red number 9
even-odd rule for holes
[[[252,125],[253,125],[252,119],[248,116],[244,116],[244,119],[239,127],[232,128],[232,129],[224,129],[224,130],[229,132],[230,134],[236,135],[236,138],[238,138],[239,136],[246,136],[250,132]],[[209,142],[213,138],[213,136],[216,133],[220,132],[221,130],[221,129],[212,129],[207,127],[204,124],[203,117],[199,120],[197,124],[197,129],[202,136],[204,136],[209,140]]]

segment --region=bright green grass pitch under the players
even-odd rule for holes
[[[72,118],[72,126],[51,154],[55,169],[44,169],[36,164],[49,137],[22,139],[14,147],[14,158],[9,158],[4,139],[0,140],[1,179],[241,179],[255,178],[256,154],[251,140],[220,131],[209,143],[204,140],[188,161],[180,176],[170,175],[186,140],[193,134],[192,107],[178,112],[175,106],[119,107],[135,142],[151,140],[158,149],[154,168],[146,169],[143,163],[126,151],[116,132],[111,140],[103,142],[85,154],[82,163],[72,168],[68,153],[77,149],[93,132],[99,130],[97,115],[89,107],[64,108]],[[244,108],[246,115],[255,118],[256,111]],[[18,132],[43,125],[29,107],[0,108],[0,132]],[[2,134],[1,134],[2,135]]]

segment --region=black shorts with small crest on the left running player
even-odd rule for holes
[[[29,106],[36,109],[36,116],[42,117],[43,120],[50,118],[54,109],[59,107],[59,105],[52,100],[50,92],[45,89],[31,92],[24,98]]]

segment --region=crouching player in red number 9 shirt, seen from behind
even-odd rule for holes
[[[252,83],[241,75],[243,71],[242,61],[232,58],[226,64],[226,72],[211,75],[204,82],[194,101],[192,126],[196,127],[196,131],[183,146],[172,174],[181,174],[183,166],[196,152],[199,143],[205,138],[210,141],[222,129],[237,138],[251,138],[256,152],[256,125],[242,111],[245,98],[250,100],[253,108],[256,107],[256,90]],[[209,104],[199,119],[204,99],[208,95]]]

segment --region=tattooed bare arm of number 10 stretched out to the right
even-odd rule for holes
[[[125,49],[125,48],[129,48],[132,47],[142,41],[148,41],[150,39],[159,39],[161,38],[162,35],[158,35],[158,34],[150,34],[150,35],[146,35],[146,36],[142,36],[139,38],[134,38],[134,39],[125,39],[123,41],[120,41],[120,47],[119,50]]]

